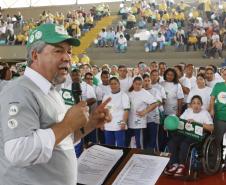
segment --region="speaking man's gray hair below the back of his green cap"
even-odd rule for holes
[[[32,64],[32,52],[36,51],[37,53],[41,53],[42,50],[46,47],[46,43],[44,41],[37,41],[34,44],[31,45],[27,49],[27,66],[30,67]]]

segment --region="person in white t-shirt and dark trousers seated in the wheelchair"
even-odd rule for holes
[[[203,124],[203,129],[209,132],[213,131],[213,120],[208,111],[202,109],[202,98],[198,95],[192,97],[190,108],[180,116],[181,119],[188,122],[198,122]],[[193,138],[180,135],[173,132],[168,143],[168,149],[171,153],[170,161],[167,168],[164,170],[166,175],[181,177],[186,175],[186,158],[189,152],[189,147],[195,143]]]

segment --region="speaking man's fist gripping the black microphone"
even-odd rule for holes
[[[84,127],[89,121],[89,108],[85,101],[72,106],[64,116],[63,123],[74,132]]]

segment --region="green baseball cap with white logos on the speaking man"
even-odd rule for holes
[[[41,24],[29,33],[27,48],[36,41],[44,41],[47,44],[56,44],[60,42],[68,42],[72,46],[79,46],[80,41],[68,35],[63,26],[56,24]]]

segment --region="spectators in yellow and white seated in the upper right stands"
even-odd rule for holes
[[[169,3],[170,2],[170,3]],[[132,1],[121,4],[119,14],[126,29],[136,29],[135,39],[145,40],[145,51],[163,51],[174,45],[176,51],[202,50],[203,57],[222,58],[226,46],[226,3],[210,0]]]

